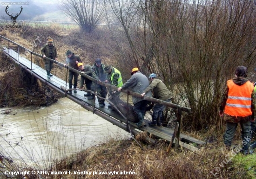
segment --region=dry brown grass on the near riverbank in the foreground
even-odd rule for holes
[[[139,137],[141,138],[141,137]],[[91,175],[66,176],[73,178],[128,178],[128,179],[230,179],[238,178],[236,166],[232,161],[221,167],[216,174],[215,168],[222,165],[228,152],[222,153],[216,145],[202,147],[198,152],[172,149],[166,153],[168,145],[164,142],[159,147],[143,145],[142,150],[134,141],[110,140],[101,146],[89,148],[56,163],[53,170],[80,170],[92,172]],[[220,146],[221,147],[221,146]],[[246,171],[239,176],[244,178]],[[96,174],[93,172],[106,172]],[[116,174],[108,172],[134,171],[136,174]],[[212,173],[211,173],[212,172]],[[215,174],[215,175],[213,175]]]

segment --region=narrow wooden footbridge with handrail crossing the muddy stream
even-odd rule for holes
[[[5,45],[5,47],[2,47],[2,41],[6,40],[8,42],[8,46]],[[42,69],[40,66],[32,63],[32,56],[38,56],[40,58],[42,58],[42,55],[34,53],[33,51],[30,51],[28,49],[26,49],[25,47],[11,41],[8,38],[5,38],[3,36],[0,36],[0,49],[2,51],[2,53],[9,57],[10,59],[13,60],[13,62],[15,62],[16,64],[18,64],[21,68],[23,68],[25,71],[27,71],[29,74],[31,74],[32,77],[35,77],[37,79],[39,79],[41,82],[45,83],[46,85],[48,85],[49,87],[53,88],[54,90],[58,91],[59,93],[65,95],[67,98],[71,99],[72,101],[80,104],[84,109],[87,109],[88,111],[93,112],[96,115],[101,116],[102,118],[104,118],[105,120],[113,123],[114,125],[128,131],[132,136],[139,134],[141,131],[146,131],[148,134],[152,134],[155,136],[155,138],[158,139],[163,139],[166,140],[168,142],[170,142],[169,147],[171,147],[172,145],[175,147],[178,146],[182,146],[185,148],[188,148],[192,151],[198,150],[199,147],[203,146],[205,144],[204,141],[200,141],[197,140],[193,137],[190,137],[188,135],[182,134],[180,133],[180,127],[179,127],[179,122],[182,119],[182,112],[190,112],[189,108],[185,108],[176,104],[172,104],[172,103],[168,103],[168,102],[164,102],[162,100],[157,100],[155,98],[151,98],[151,97],[147,97],[144,96],[143,98],[145,100],[151,101],[151,102],[158,102],[158,103],[162,103],[166,106],[169,106],[171,108],[176,109],[177,112],[177,124],[176,124],[176,128],[175,130],[172,130],[170,128],[165,128],[165,127],[149,127],[148,123],[149,121],[146,120],[147,123],[147,127],[143,127],[143,128],[137,128],[137,126],[135,125],[135,123],[126,120],[126,117],[124,115],[122,115],[121,113],[118,113],[116,111],[112,111],[111,109],[108,109],[107,107],[104,108],[100,108],[98,101],[96,100],[88,100],[88,97],[85,97],[84,91],[81,90],[77,90],[77,93],[72,93],[72,94],[68,94],[67,93],[67,82],[60,79],[59,77],[53,76],[50,79],[47,78],[47,74],[46,71],[44,69]],[[10,48],[10,43],[13,45],[15,45],[17,48],[15,48],[15,51],[12,50]],[[20,50],[22,49],[22,51],[26,51],[26,53],[28,54],[27,57],[30,59],[27,59],[27,57],[23,57],[20,55]],[[49,59],[52,60],[52,59]],[[73,68],[69,68],[69,67],[64,67],[64,64],[52,60],[55,64],[60,65],[61,67],[63,67],[64,69],[66,68],[67,70],[72,70],[76,73],[79,73],[80,75],[87,77],[88,79],[100,84],[100,85],[104,85],[109,89],[114,89],[117,90],[117,87],[112,86],[110,84],[107,83],[102,83],[102,82],[97,82],[94,78],[89,77],[85,74],[81,74],[80,71],[75,70]],[[141,97],[140,94],[137,93],[133,93],[131,91],[128,90],[121,90],[121,92],[124,92],[127,94],[127,100],[129,100],[129,96],[137,96],[137,97]],[[142,98],[142,97],[141,97]],[[106,101],[106,106],[108,106],[108,101]],[[135,139],[135,138],[134,138]],[[153,144],[157,144],[157,142],[150,138],[150,137],[146,137],[146,141],[153,143]]]

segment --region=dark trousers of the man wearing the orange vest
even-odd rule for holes
[[[251,122],[239,122],[242,128],[242,147],[243,151],[248,151],[249,150],[249,142],[251,141]],[[224,133],[224,144],[226,147],[231,146],[232,140],[234,138],[236,128],[237,128],[238,123],[233,123],[233,122],[226,122],[226,131]]]

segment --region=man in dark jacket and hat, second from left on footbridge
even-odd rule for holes
[[[64,64],[64,66],[66,66],[68,64],[69,67],[74,68],[75,70],[78,70],[77,64],[79,62],[82,62],[81,59],[79,58],[79,56],[74,55],[74,53],[70,50],[68,50],[66,52],[66,64]],[[69,85],[69,89],[72,89],[72,80],[74,77],[74,89],[76,89],[77,87],[77,80],[78,80],[78,73],[75,73],[72,70],[68,70],[68,85]],[[68,91],[69,94],[72,93],[71,91]],[[76,90],[74,90],[74,93],[76,93]]]

